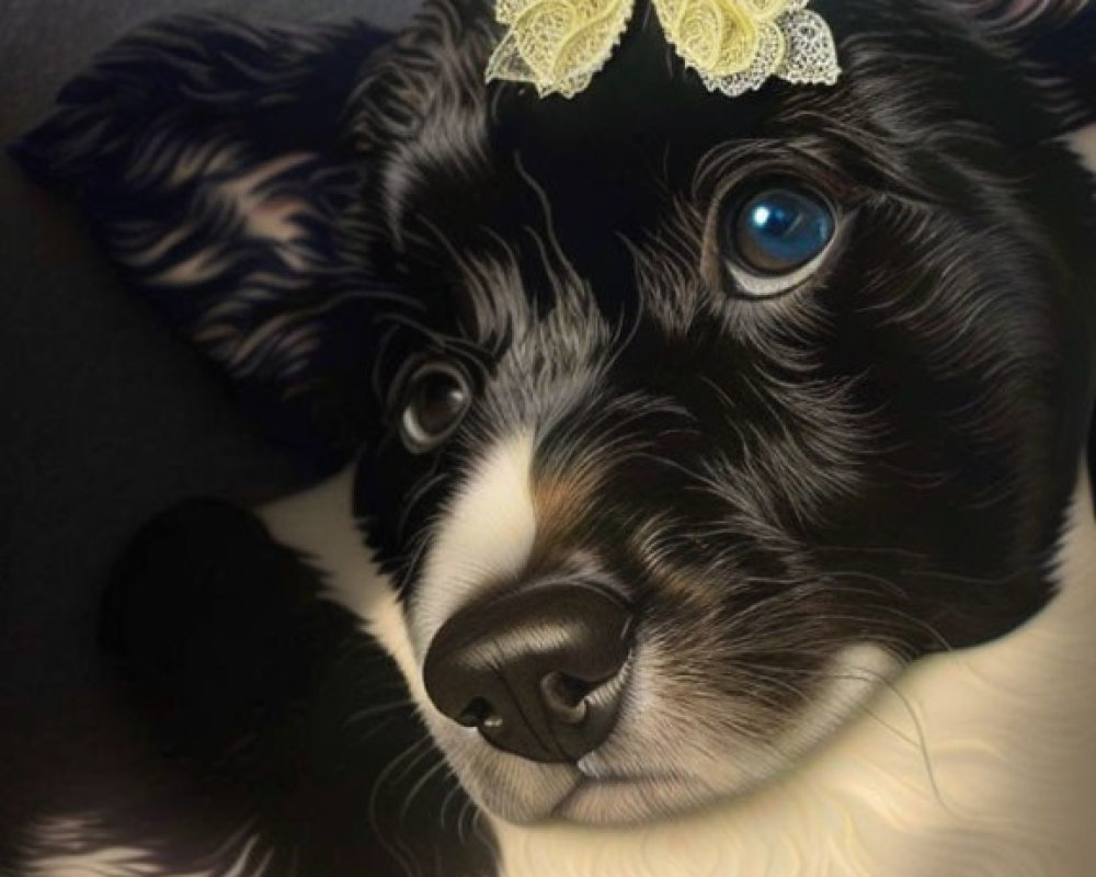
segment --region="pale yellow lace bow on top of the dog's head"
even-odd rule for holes
[[[832,86],[841,76],[830,26],[809,0],[651,0],[677,54],[729,98],[770,77]],[[636,0],[498,0],[506,35],[488,80],[532,82],[573,98],[608,62]]]

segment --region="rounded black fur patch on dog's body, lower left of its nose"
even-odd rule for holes
[[[145,527],[113,576],[102,640],[174,776],[96,816],[137,820],[169,873],[227,869],[253,838],[249,863],[269,857],[269,874],[489,873],[489,841],[398,671],[321,586],[225,503]]]

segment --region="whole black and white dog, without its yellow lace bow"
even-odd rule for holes
[[[492,5],[169,22],[18,147],[339,472],[137,538],[168,766],[18,873],[1089,874],[1094,10],[815,0],[729,100],[640,3],[541,100]]]

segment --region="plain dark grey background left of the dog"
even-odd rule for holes
[[[179,11],[366,18],[418,0],[0,0],[0,143],[127,30]],[[0,843],[102,733],[93,620],[128,536],[190,496],[258,502],[295,477],[216,376],[129,296],[79,215],[0,158]],[[45,776],[48,771],[50,776]]]

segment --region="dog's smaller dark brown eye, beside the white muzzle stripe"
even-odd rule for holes
[[[450,363],[427,363],[408,381],[400,430],[412,454],[426,454],[448,438],[472,402],[464,371]]]

